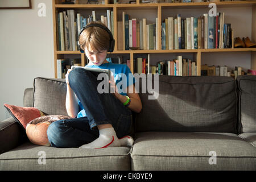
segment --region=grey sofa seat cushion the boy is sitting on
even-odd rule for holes
[[[55,148],[27,142],[0,155],[2,170],[130,170],[130,148]]]

